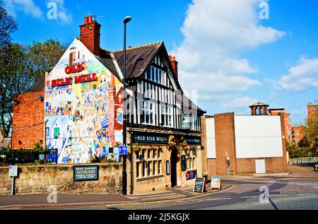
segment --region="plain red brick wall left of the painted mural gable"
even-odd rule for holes
[[[38,95],[44,98],[44,94],[39,91],[16,96],[19,103],[13,105],[13,149],[32,149],[37,141],[43,140],[44,101]]]

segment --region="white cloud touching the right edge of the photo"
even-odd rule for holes
[[[287,75],[271,83],[276,88],[287,90],[303,90],[318,86],[318,59],[301,57],[298,63],[289,69]]]

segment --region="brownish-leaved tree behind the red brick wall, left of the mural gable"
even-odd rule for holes
[[[57,64],[66,46],[58,40],[23,46],[8,44],[0,57],[0,123],[2,134],[8,136],[12,128],[13,99],[24,93],[45,71]]]

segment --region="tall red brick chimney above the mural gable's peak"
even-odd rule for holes
[[[93,16],[84,18],[84,24],[80,25],[81,42],[96,56],[100,56],[100,27]]]

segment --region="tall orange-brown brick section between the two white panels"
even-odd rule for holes
[[[217,175],[227,175],[225,153],[230,156],[230,174],[235,175],[236,171],[236,152],[235,152],[235,126],[234,113],[216,114],[214,116],[216,129],[216,167]]]

